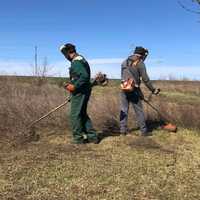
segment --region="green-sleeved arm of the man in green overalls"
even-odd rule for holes
[[[89,74],[87,73],[85,66],[80,61],[74,61],[71,66],[71,70],[71,82],[75,86],[75,90],[80,89],[84,84],[90,81]]]

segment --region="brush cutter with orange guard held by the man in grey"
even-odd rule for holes
[[[160,92],[160,90],[159,90]],[[149,105],[154,111],[156,111],[158,113],[158,115],[160,116],[160,118],[164,121],[164,125],[162,125],[162,129],[169,131],[169,132],[176,132],[177,131],[177,126],[170,123],[168,121],[168,119],[166,119],[166,117],[154,106],[150,103],[152,94],[149,95],[148,99],[143,98],[143,101]]]

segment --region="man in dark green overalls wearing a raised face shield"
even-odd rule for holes
[[[66,89],[71,93],[70,120],[73,130],[73,143],[98,143],[99,139],[87,114],[87,105],[91,95],[90,66],[76,52],[73,44],[60,47],[65,58],[71,62],[70,82]]]

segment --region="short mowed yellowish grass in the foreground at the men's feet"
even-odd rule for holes
[[[72,145],[67,132],[0,153],[0,199],[199,199],[198,132]]]

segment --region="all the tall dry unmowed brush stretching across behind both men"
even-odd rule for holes
[[[65,91],[56,84],[45,83],[42,86],[18,81],[16,78],[0,79],[0,131],[3,134],[15,135],[23,131],[32,121],[46,114],[49,110],[63,103],[66,99]],[[166,90],[178,90],[199,94],[199,84],[166,84],[156,83]],[[113,86],[114,87],[114,86]],[[167,88],[169,87],[169,88]],[[89,103],[89,114],[97,129],[110,132],[119,131],[120,95],[119,91],[108,90],[103,94],[92,95]],[[197,104],[179,104],[167,99],[156,97],[152,103],[169,121],[187,128],[200,128],[200,106]],[[38,126],[43,128],[69,128],[69,106],[55,112]],[[150,122],[159,121],[160,116],[149,106],[144,105],[146,118]],[[132,108],[130,108],[129,126],[136,127],[137,122]]]

